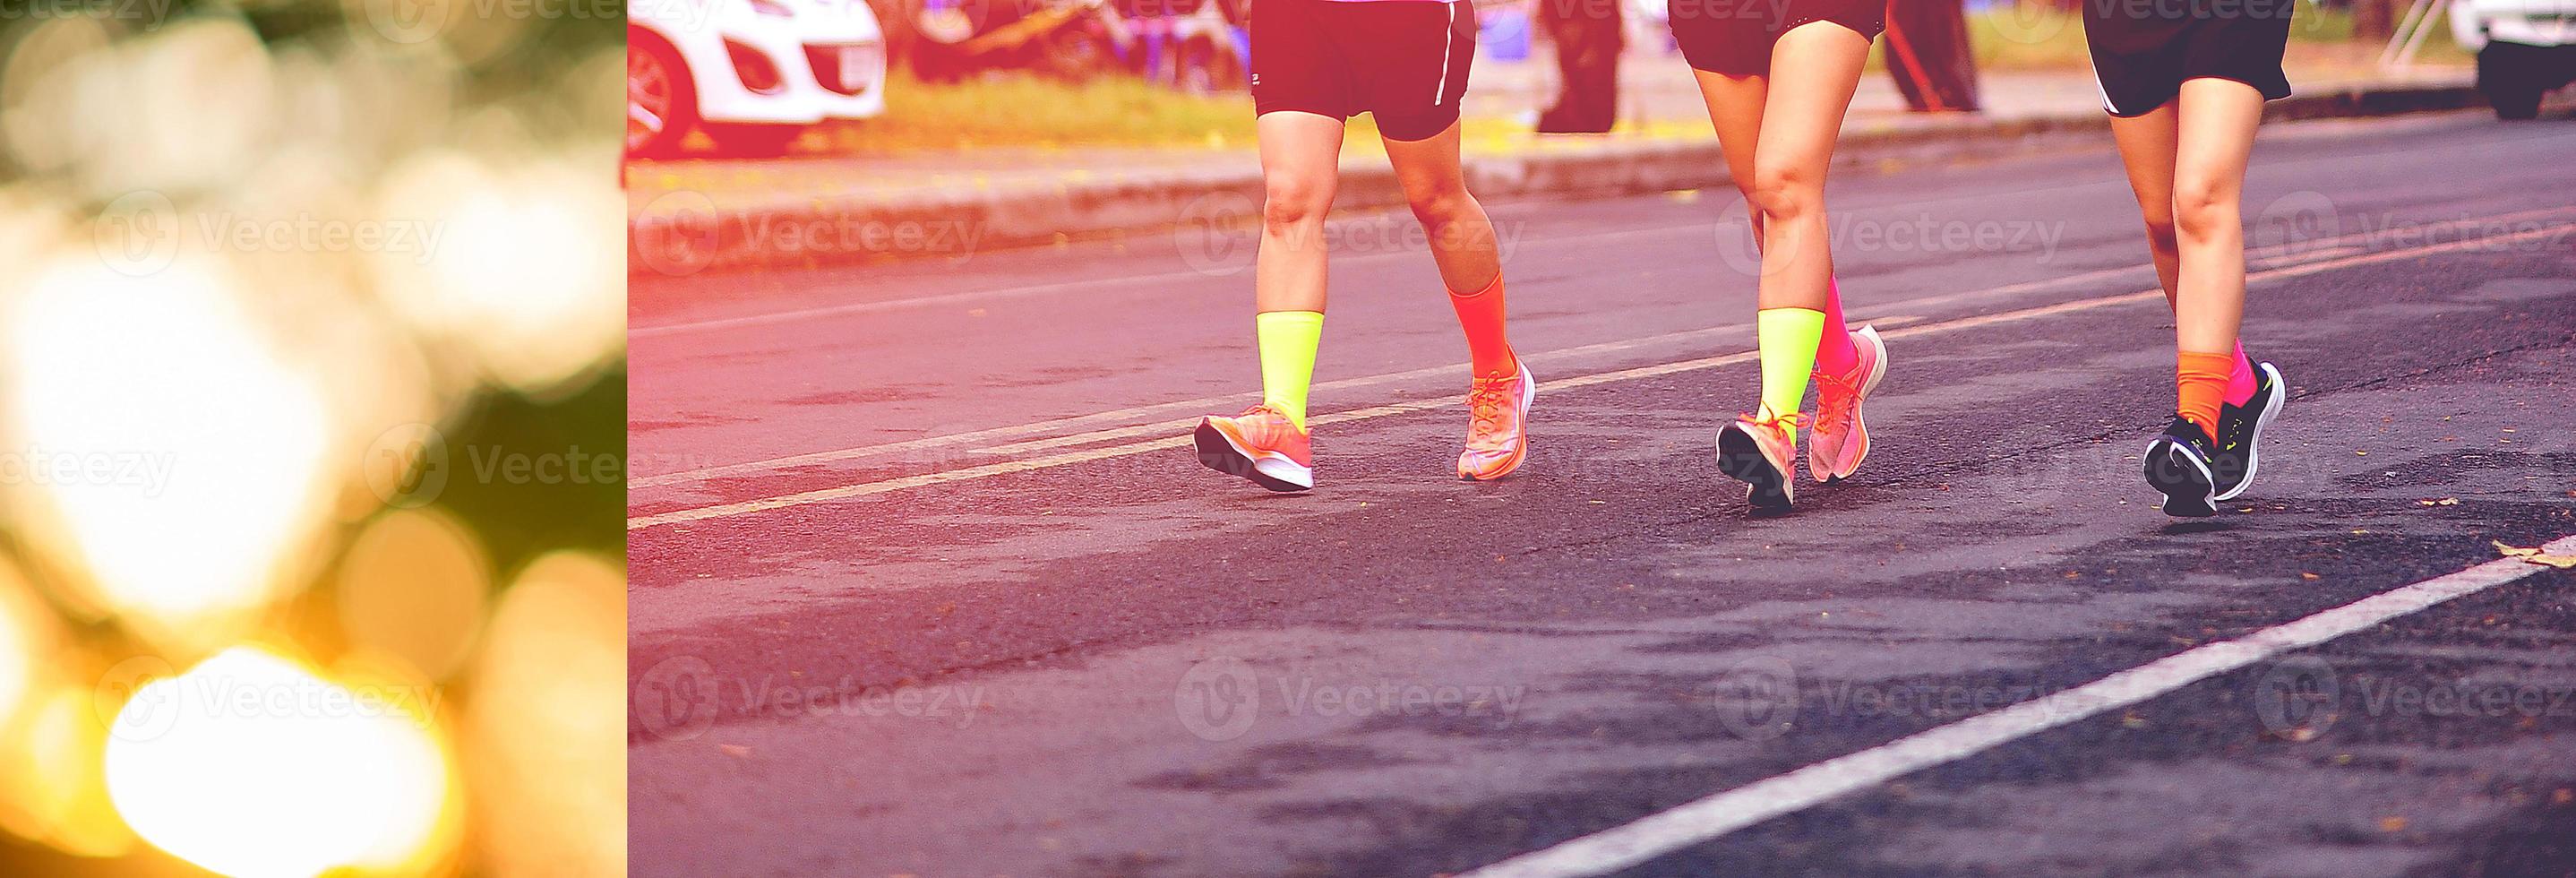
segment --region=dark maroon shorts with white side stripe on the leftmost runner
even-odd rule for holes
[[[1476,62],[1468,0],[1260,0],[1252,5],[1252,111],[1373,113],[1414,142],[1458,121]]]

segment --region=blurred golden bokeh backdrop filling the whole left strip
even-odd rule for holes
[[[0,875],[623,873],[621,21],[10,10]]]

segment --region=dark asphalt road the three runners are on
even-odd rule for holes
[[[2568,157],[2264,131],[2293,399],[2205,523],[2136,474],[2172,319],[2107,144],[1837,170],[1893,373],[1767,520],[1708,445],[1757,378],[1731,193],[1497,209],[1540,381],[1497,484],[1409,216],[1337,221],[1311,494],[1185,443],[1257,389],[1244,232],[639,281],[634,870],[2576,873],[2576,572],[2494,546],[2576,536]]]

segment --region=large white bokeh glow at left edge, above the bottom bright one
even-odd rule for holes
[[[229,633],[209,615],[270,597],[322,500],[314,389],[198,263],[129,278],[62,257],[5,322],[13,445],[75,554],[62,561],[155,633]]]

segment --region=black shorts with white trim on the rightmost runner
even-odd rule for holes
[[[2251,85],[2290,98],[2280,54],[2298,0],[2084,0],[2084,44],[2102,80],[2102,108],[2146,116],[2182,93],[2182,80]]]

